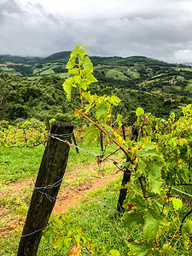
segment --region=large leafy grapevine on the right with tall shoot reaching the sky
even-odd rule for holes
[[[118,114],[113,127],[111,125],[113,106],[117,106],[120,99],[117,96],[91,95],[89,85],[96,83],[96,79],[86,53],[85,45],[73,49],[67,63],[69,77],[63,88],[69,101],[72,90],[79,90],[81,108],[75,108],[75,114],[90,122],[84,139],[90,143],[102,131],[107,141],[115,143],[124,152],[125,167],[134,173],[126,184],[128,192],[123,218],[125,226],[131,230],[139,228],[142,232],[140,239],[129,243],[129,255],[169,255],[177,249],[172,247],[177,234],[183,238],[185,250],[189,250],[192,221],[181,222],[179,211],[183,207],[183,198],[171,195],[169,186],[191,183],[192,106],[183,108],[183,116],[178,120],[174,113],[168,120],[157,119],[150,113],[144,113],[143,108],[137,108],[137,140],[125,142],[114,129],[115,126],[121,127],[122,116]],[[89,117],[90,113],[94,116]],[[170,220],[172,214],[176,216],[173,222]],[[185,233],[179,231],[181,225]],[[170,239],[165,238],[168,231],[172,234]],[[162,246],[160,241],[165,239]]]

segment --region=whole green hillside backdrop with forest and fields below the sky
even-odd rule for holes
[[[71,122],[78,102],[66,101],[62,84],[67,78],[70,51],[46,58],[0,55],[0,119],[56,118]],[[192,67],[171,64],[144,56],[90,56],[98,83],[91,86],[97,94],[121,98],[114,113],[131,122],[137,107],[167,118],[179,114],[192,102]]]

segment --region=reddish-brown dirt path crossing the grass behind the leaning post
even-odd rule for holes
[[[72,174],[70,174],[70,176],[71,175]],[[86,182],[79,184],[79,186],[74,187],[74,189],[78,189],[84,194],[87,194],[88,192],[95,189],[101,189],[105,187],[107,183],[113,181],[114,179],[119,177],[119,175],[120,173],[110,176],[101,175],[96,177],[94,181],[87,180]],[[35,178],[32,178],[28,181],[11,183],[8,185],[6,190],[0,191],[0,199],[6,200],[6,198],[16,198],[23,196],[25,195],[26,189],[28,191],[27,197],[31,198],[34,183]],[[30,201],[30,198],[27,198],[27,201]],[[83,199],[83,195],[80,195],[78,192],[74,191],[73,189],[67,188],[67,186],[62,184],[59,194],[57,196],[57,201],[55,201],[55,207],[52,213],[66,212],[68,207],[75,207]],[[0,207],[0,236],[2,236],[2,238],[6,238],[9,235],[11,236],[10,232],[12,230],[18,230],[22,228],[25,224],[25,217],[20,217],[20,214],[16,213],[18,212],[17,207],[18,206],[16,206],[16,202],[15,205],[11,206],[11,209],[10,206],[7,205]],[[13,214],[13,212],[15,212],[16,214]]]

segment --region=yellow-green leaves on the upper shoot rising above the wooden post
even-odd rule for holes
[[[88,56],[85,56],[87,50],[84,50],[86,45],[83,47],[77,46],[73,49],[70,56],[70,60],[67,62],[67,69],[69,78],[63,84],[63,89],[67,92],[67,99],[71,101],[71,93],[73,87],[76,87],[79,90],[80,100],[81,100],[81,109],[76,110],[77,114],[83,115],[88,113],[91,108],[94,108],[95,118],[97,121],[97,128],[105,127],[105,133],[109,140],[116,138],[119,143],[122,143],[121,137],[113,130],[113,128],[108,125],[112,116],[113,106],[117,106],[120,102],[119,97],[117,96],[97,96],[91,95],[89,91],[89,86],[91,83],[96,82],[97,80],[93,76],[93,66],[90,62]],[[86,91],[88,90],[88,91]],[[84,100],[88,103],[85,104]],[[116,119],[118,125],[120,125],[120,118]],[[99,129],[100,129],[99,128]],[[90,135],[88,137],[88,142],[95,131],[90,127]],[[98,129],[97,129],[98,131]],[[88,135],[89,132],[86,132],[85,135]],[[96,135],[99,132],[96,132]],[[95,138],[95,137],[94,137]]]

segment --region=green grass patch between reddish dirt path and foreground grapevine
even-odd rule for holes
[[[90,192],[90,195],[115,209],[119,196],[120,182],[121,177],[109,183],[106,188]],[[70,217],[73,221],[69,229],[80,227],[85,234],[91,237],[94,243],[100,247],[106,247],[108,252],[112,249],[118,249],[121,255],[128,253],[129,249],[124,238],[128,238],[129,234],[127,229],[123,228],[122,219],[119,218],[116,212],[86,198],[79,207],[75,207],[75,211],[69,209],[64,215],[58,215],[58,218]],[[82,214],[86,217],[82,216]],[[46,241],[42,240],[39,253],[43,251],[44,244],[46,244]]]

